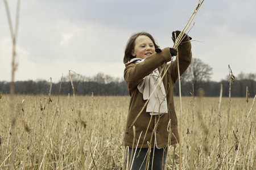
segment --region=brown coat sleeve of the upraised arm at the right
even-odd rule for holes
[[[178,57],[179,57],[179,70],[180,75],[182,75],[188,68],[191,63],[192,59],[192,52],[191,52],[191,42],[188,39],[183,40],[180,45],[177,47]],[[175,84],[178,77],[177,71],[177,59],[170,63],[168,74],[171,74],[172,82]],[[173,85],[174,85],[173,84]]]

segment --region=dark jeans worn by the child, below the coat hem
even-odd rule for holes
[[[133,160],[135,149],[133,151],[133,156],[131,158],[131,151],[132,150],[129,147],[129,158],[127,158],[127,160],[129,160],[129,162],[126,162],[126,163],[130,164],[130,161],[131,162],[133,161],[133,166],[131,168],[133,170],[138,170],[138,169],[144,170],[145,167],[146,167],[148,148],[142,148],[140,153],[139,153],[139,149],[140,148],[137,148],[137,152],[136,152],[134,160]],[[160,148],[160,149],[155,148],[155,153],[153,153],[153,152],[154,152],[154,148],[151,148],[150,161],[147,165],[148,169],[154,169],[154,170],[164,169],[164,165],[166,163],[166,157],[167,157],[167,148]],[[137,158],[138,153],[139,153],[139,157]],[[154,154],[154,160],[152,160],[153,159],[153,154]],[[127,153],[126,153],[126,155],[127,155]],[[152,163],[153,163],[153,168],[152,168]]]

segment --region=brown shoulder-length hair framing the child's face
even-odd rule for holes
[[[134,45],[135,45],[135,40],[137,39],[138,36],[140,35],[145,35],[148,36],[154,43],[155,49],[159,48],[159,46],[156,44],[154,38],[150,35],[150,33],[147,32],[138,32],[138,33],[134,33],[134,35],[132,35],[130,37],[130,39],[127,41],[126,44],[126,48],[125,48],[125,56],[123,57],[123,63],[127,63],[129,62],[131,59],[135,58],[134,56],[131,55],[131,52],[133,52],[134,49]]]

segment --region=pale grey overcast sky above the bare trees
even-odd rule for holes
[[[15,21],[16,1],[8,1]],[[197,0],[26,0],[21,1],[15,80],[58,82],[73,70],[84,76],[123,77],[129,37],[147,31],[160,48],[172,47]],[[213,68],[212,80],[256,73],[256,1],[205,0],[189,32],[193,57]],[[11,36],[0,3],[0,81],[11,80]]]

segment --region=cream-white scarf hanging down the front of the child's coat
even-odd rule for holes
[[[143,61],[144,59],[138,59],[135,63],[137,64]],[[144,100],[147,100],[150,97],[160,79],[161,77],[158,69],[155,69],[150,75],[143,78],[142,82],[137,86],[137,88],[139,92],[142,93]],[[163,82],[158,84],[158,87],[156,87],[156,90],[148,100],[146,112],[150,112],[150,115],[168,113],[166,91],[164,90]]]

